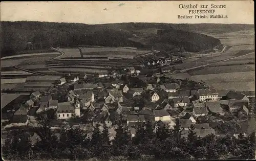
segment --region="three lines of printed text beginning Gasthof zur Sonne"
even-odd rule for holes
[[[225,10],[227,8],[226,5],[185,5],[179,4],[179,9],[187,10],[187,14],[178,14],[177,17],[179,19],[182,18],[227,18],[227,15],[219,14],[221,10]]]

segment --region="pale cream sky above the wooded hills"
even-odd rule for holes
[[[254,24],[253,1],[110,1],[110,2],[1,2],[1,21],[77,22],[110,24],[120,22],[164,22],[172,24]],[[179,5],[226,5],[215,14],[228,18],[178,18],[189,14]],[[195,9],[194,9],[195,10]]]

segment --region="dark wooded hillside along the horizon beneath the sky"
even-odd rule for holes
[[[100,45],[109,47],[138,47],[158,49],[166,46],[170,49],[180,48],[178,40],[186,38],[182,46],[187,51],[195,51],[194,48],[205,50],[213,47],[218,39],[212,39],[202,34],[190,33],[191,31],[240,31],[250,28],[248,25],[221,25],[221,24],[157,24],[157,23],[121,23],[86,25],[74,23],[35,22],[35,21],[2,21],[1,22],[1,57],[33,50],[49,49],[50,47],[76,47],[77,45]],[[216,30],[211,30],[215,28]],[[171,30],[163,37],[157,31]],[[184,32],[180,32],[182,30]],[[190,36],[189,36],[190,35]],[[188,38],[187,38],[188,36]],[[129,38],[145,38],[140,41]],[[169,39],[168,37],[172,37]],[[165,41],[166,40],[166,41]],[[167,43],[166,43],[167,42]],[[203,42],[203,44],[201,44]],[[212,43],[214,42],[214,43]],[[159,48],[162,49],[162,48]],[[37,50],[37,51],[36,51]],[[197,50],[196,50],[197,51]]]

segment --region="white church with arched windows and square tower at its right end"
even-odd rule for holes
[[[70,119],[74,116],[80,117],[80,104],[76,100],[76,104],[70,102],[59,102],[56,111],[57,119]]]

